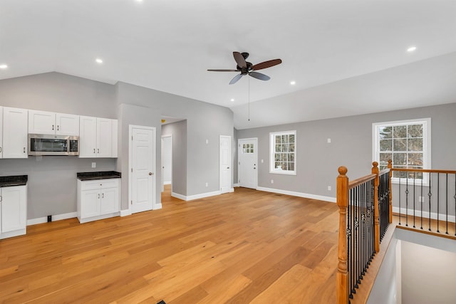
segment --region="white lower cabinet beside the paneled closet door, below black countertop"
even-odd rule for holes
[[[80,223],[107,219],[120,214],[120,179],[78,179],[78,219]]]

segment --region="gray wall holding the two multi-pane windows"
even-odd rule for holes
[[[431,117],[432,168],[456,169],[456,103],[274,127],[237,130],[237,138],[258,137],[258,185],[336,197],[337,168],[355,179],[371,172],[372,123]],[[296,176],[269,173],[269,132],[296,130]],[[327,139],[331,138],[331,143]],[[261,164],[261,159],[264,163]],[[274,179],[274,184],[270,180]],[[234,179],[236,180],[236,178]],[[331,191],[327,187],[331,186]]]

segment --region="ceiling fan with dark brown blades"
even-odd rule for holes
[[[269,80],[271,78],[268,75],[255,71],[263,68],[270,68],[271,66],[282,63],[281,59],[273,59],[271,61],[264,61],[262,63],[257,63],[256,65],[252,65],[252,63],[245,61],[249,57],[249,53],[233,52],[233,56],[237,63],[236,70],[209,70],[211,72],[241,72],[240,74],[234,76],[234,78],[229,82],[230,85],[237,83],[237,80],[241,79],[244,75],[249,75],[259,80]]]

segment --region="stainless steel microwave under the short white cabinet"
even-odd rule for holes
[[[28,155],[79,155],[79,137],[28,134]]]

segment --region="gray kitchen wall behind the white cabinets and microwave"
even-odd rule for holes
[[[92,80],[46,73],[0,81],[0,105],[116,118],[115,89]],[[96,162],[96,169],[91,163]],[[27,219],[76,211],[76,172],[115,169],[116,159],[0,159],[0,175],[28,175]]]

